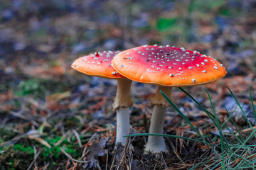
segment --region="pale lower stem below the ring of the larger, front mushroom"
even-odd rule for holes
[[[149,128],[149,133],[159,133],[163,134],[164,128],[164,118],[166,115],[167,108],[160,105],[154,106],[153,114],[151,117],[151,123]],[[166,144],[164,142],[164,137],[161,136],[149,136],[148,142],[144,149],[145,152],[160,153],[166,152]]]

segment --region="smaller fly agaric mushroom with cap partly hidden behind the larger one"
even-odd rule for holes
[[[117,94],[114,98],[113,110],[117,111],[116,145],[120,142],[123,146],[129,134],[129,107],[132,99],[129,93],[132,81],[118,74],[112,67],[111,61],[119,51],[96,52],[95,54],[80,57],[73,62],[73,69],[90,76],[107,79],[117,79]]]

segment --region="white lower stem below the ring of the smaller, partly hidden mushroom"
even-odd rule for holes
[[[124,146],[127,137],[123,137],[125,135],[129,135],[129,108],[119,108],[117,110],[117,138],[116,138],[116,145],[117,143],[121,142]]]

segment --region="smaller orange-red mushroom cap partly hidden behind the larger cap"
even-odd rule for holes
[[[90,76],[108,79],[124,78],[112,67],[111,61],[120,51],[96,52],[95,54],[80,57],[71,67]]]

